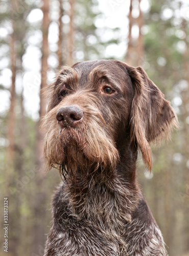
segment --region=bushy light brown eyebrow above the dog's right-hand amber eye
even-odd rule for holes
[[[115,74],[112,74],[108,69],[105,69],[103,65],[92,69],[88,75],[88,80],[91,83],[98,82],[102,79],[106,79],[109,83],[113,84],[117,89],[122,91],[119,83],[117,82]]]

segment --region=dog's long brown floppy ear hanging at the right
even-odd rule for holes
[[[147,168],[152,168],[149,142],[168,137],[171,127],[178,127],[177,116],[170,102],[141,68],[128,68],[134,87],[130,126],[132,141],[137,144]]]

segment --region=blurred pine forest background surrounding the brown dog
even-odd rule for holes
[[[61,178],[45,175],[40,89],[62,65],[115,58],[142,66],[178,115],[172,141],[153,149],[151,175],[138,160],[138,179],[169,254],[189,255],[188,0],[1,0],[0,14],[0,254],[43,255],[51,226]]]

